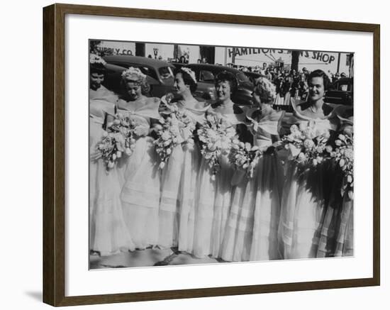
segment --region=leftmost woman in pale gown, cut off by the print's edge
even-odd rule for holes
[[[120,250],[133,250],[134,245],[123,221],[119,194],[118,171],[116,167],[106,169],[102,159],[94,159],[96,143],[104,133],[108,115],[115,114],[114,102],[118,98],[101,85],[104,81],[104,60],[97,55],[90,56],[89,89],[89,240],[90,250],[100,255],[112,255]]]

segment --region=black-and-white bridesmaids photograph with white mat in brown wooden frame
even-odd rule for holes
[[[43,9],[43,299],[379,285],[379,25]]]

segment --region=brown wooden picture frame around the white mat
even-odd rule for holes
[[[244,24],[357,31],[373,34],[373,277],[316,282],[260,284],[234,287],[179,289],[160,292],[65,296],[65,16],[116,16],[173,21]],[[53,4],[43,9],[43,301],[52,306],[103,304],[216,297],[267,292],[291,292],[311,289],[364,287],[380,284],[380,26],[366,23],[311,21],[291,18],[235,16],[183,11],[123,9],[102,6]]]

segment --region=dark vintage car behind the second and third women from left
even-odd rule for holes
[[[161,98],[169,92],[173,92],[174,65],[162,60],[155,60],[148,57],[128,56],[128,55],[109,55],[105,56],[104,60],[108,64],[117,65],[120,67],[138,67],[151,83],[150,95]],[[156,83],[157,82],[157,83]]]

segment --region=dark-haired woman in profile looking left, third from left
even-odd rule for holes
[[[208,109],[204,102],[192,96],[196,86],[192,70],[187,67],[177,70],[174,76],[175,99],[169,103],[184,111],[194,128],[204,121]],[[182,129],[181,134],[184,142],[174,147],[162,172],[158,244],[161,248],[177,246],[179,251],[192,253],[200,153],[196,143],[188,143],[188,138],[192,138],[194,133]]]

